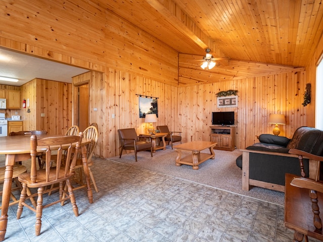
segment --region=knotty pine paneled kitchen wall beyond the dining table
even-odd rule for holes
[[[21,95],[30,103],[30,112],[22,112],[24,130],[63,135],[71,126],[72,84],[36,78],[22,86]]]

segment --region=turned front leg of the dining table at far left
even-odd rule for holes
[[[12,175],[15,164],[15,154],[6,155],[6,171],[2,193],[2,209],[0,217],[0,241],[5,240],[8,224],[8,207],[12,186]]]

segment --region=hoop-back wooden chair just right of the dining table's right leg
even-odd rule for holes
[[[90,178],[91,178],[91,185],[93,185],[95,192],[98,192],[98,189],[97,189],[97,186],[95,183],[95,179],[94,179],[94,175],[91,170],[91,166],[93,165],[92,156],[93,156],[96,144],[97,144],[98,131],[94,126],[89,126],[84,130],[83,137],[91,140],[91,142],[86,145],[86,152],[87,152],[86,158],[87,158],[88,169],[89,169],[89,174],[90,174]],[[75,175],[73,180],[78,184],[78,186],[77,187],[74,186],[73,191],[87,187],[86,182],[83,181],[83,172],[82,172],[83,171],[83,161],[82,161],[82,157],[80,157],[80,156],[78,157],[78,159],[76,161],[76,165],[75,165],[75,172],[77,172],[77,171],[78,171],[78,175]]]

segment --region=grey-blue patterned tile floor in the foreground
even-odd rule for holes
[[[41,234],[35,215],[9,208],[5,241],[292,241],[284,207],[110,160],[94,159],[99,192],[88,203],[75,192],[80,215],[70,204],[43,210]],[[52,197],[45,196],[44,201]],[[315,240],[310,240],[315,241]]]

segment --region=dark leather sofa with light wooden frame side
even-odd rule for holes
[[[323,131],[310,127],[298,128],[292,139],[263,134],[259,143],[241,150],[236,164],[242,169],[242,189],[250,186],[285,192],[285,173],[300,175],[297,155],[289,154],[290,149],[323,155]],[[303,159],[306,176],[311,176],[311,162]],[[323,172],[322,172],[323,173]]]

